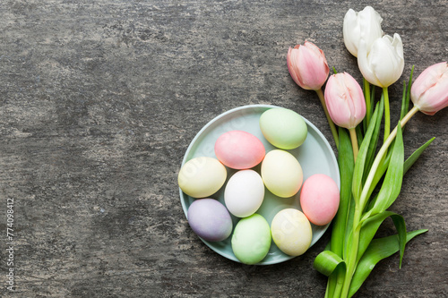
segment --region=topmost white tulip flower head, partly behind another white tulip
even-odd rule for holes
[[[344,44],[351,55],[358,57],[359,40],[366,40],[367,52],[377,38],[383,36],[381,22],[383,18],[375,12],[371,6],[366,6],[364,10],[356,13],[351,8],[344,16]]]

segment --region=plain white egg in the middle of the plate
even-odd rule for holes
[[[232,175],[224,191],[226,207],[236,217],[253,215],[263,198],[263,179],[254,170],[241,170]]]

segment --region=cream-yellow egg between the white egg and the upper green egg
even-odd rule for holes
[[[302,185],[302,166],[288,151],[274,149],[263,159],[262,178],[270,192],[280,198],[289,198],[295,195]]]

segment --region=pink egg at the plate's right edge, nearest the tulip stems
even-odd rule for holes
[[[300,191],[300,206],[316,226],[330,223],[339,208],[340,192],[331,177],[315,174],[306,179]]]

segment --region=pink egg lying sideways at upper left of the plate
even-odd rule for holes
[[[225,132],[215,143],[215,154],[220,162],[237,170],[258,165],[265,153],[262,141],[249,132]]]

